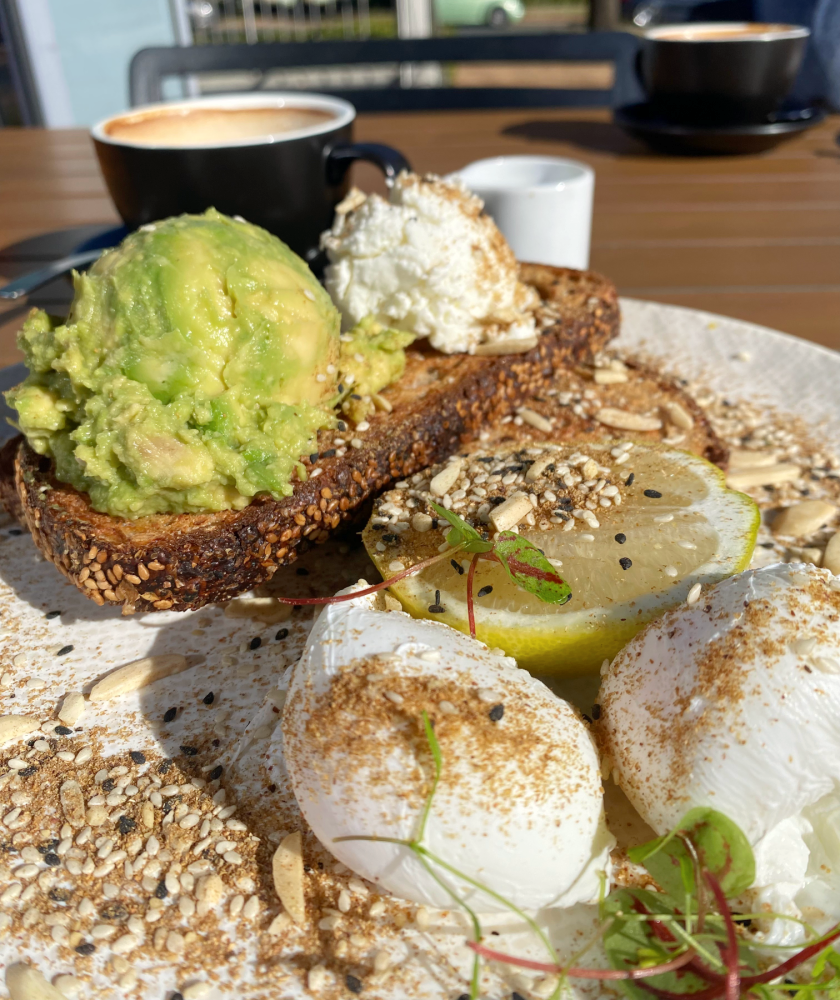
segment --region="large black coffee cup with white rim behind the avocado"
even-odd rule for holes
[[[193,142],[178,135],[185,119],[194,128],[196,113],[206,112],[219,115],[204,115],[203,141],[180,144]],[[219,119],[225,135],[237,126],[247,132],[242,112],[255,112],[248,127],[259,130],[265,123],[275,131],[214,136]],[[296,115],[299,127],[286,130],[286,112]],[[231,124],[230,116],[237,121]],[[410,169],[389,146],[354,143],[355,117],[352,104],[323,94],[247,94],[134,108],[99,122],[91,135],[108,191],[129,229],[213,207],[268,229],[311,261],[347,193],[351,163],[375,163],[387,178]],[[208,135],[218,141],[208,142]]]

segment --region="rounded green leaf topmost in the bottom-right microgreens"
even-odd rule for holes
[[[755,881],[755,857],[744,833],[723,813],[706,806],[691,809],[665,837],[628,851],[644,865],[672,898],[696,892],[694,862],[683,842],[694,845],[703,868],[720,882],[727,897],[737,896]]]

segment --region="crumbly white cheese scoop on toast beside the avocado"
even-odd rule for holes
[[[352,191],[321,238],[344,328],[372,318],[447,354],[533,346],[539,296],[482,208],[460,182],[410,173],[387,201]]]

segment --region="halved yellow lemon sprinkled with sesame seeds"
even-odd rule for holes
[[[449,526],[430,501],[489,539],[513,530],[552,562],[572,590],[562,605],[482,559],[476,635],[533,673],[566,676],[597,671],[652,618],[745,569],[759,524],[755,503],[728,489],[717,466],[662,445],[473,451],[379,498],[363,539],[384,578],[447,552]],[[470,558],[452,551],[390,589],[414,617],[466,632]]]

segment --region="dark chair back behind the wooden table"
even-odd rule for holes
[[[627,103],[622,82],[634,76],[639,40],[624,31],[460,34],[444,38],[258,42],[141,49],[131,61],[133,107],[163,100],[168,76],[231,70],[300,69],[376,63],[612,62],[611,90],[530,87],[323,88],[359,111],[433,111],[467,108],[604,107]],[[619,100],[619,96],[623,99]]]

